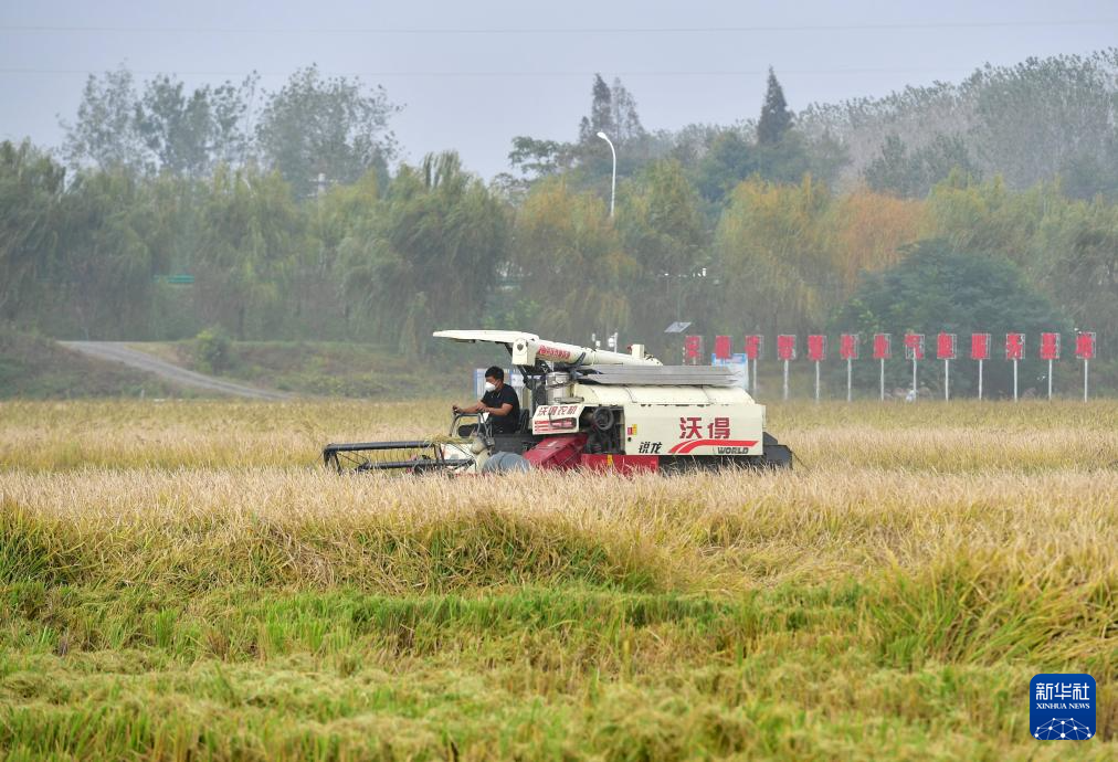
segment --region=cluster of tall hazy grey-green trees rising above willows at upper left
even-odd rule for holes
[[[160,75],[138,85],[121,67],[89,76],[77,116],[63,122],[61,155],[73,170],[210,177],[219,166],[256,164],[280,172],[296,198],[329,183],[387,178],[398,108],[383,88],[328,77],[316,66],[267,93],[259,77],[190,89]]]

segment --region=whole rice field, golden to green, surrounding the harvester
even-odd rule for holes
[[[771,406],[790,474],[319,463],[448,411],[0,403],[0,756],[1118,756],[1118,403]],[[1031,737],[1042,671],[1093,740]]]

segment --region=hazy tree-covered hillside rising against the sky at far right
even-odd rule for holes
[[[813,104],[811,140],[839,141],[840,187],[922,197],[955,166],[1016,190],[1063,178],[1078,198],[1118,198],[1118,48],[986,65],[961,83]]]

